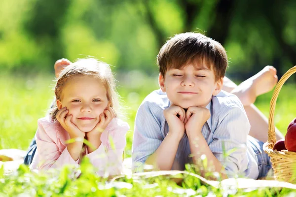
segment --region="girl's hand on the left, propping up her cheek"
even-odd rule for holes
[[[80,131],[74,123],[71,122],[72,115],[67,115],[69,110],[67,107],[60,109],[56,115],[57,120],[62,127],[69,133],[70,138],[81,138],[84,139],[85,132]],[[67,117],[66,117],[67,116]]]

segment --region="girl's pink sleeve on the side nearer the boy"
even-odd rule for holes
[[[96,173],[99,176],[121,174],[123,163],[123,151],[126,145],[125,134],[130,129],[129,125],[123,121],[118,120],[115,126],[108,130],[108,141],[104,145],[103,141],[99,148],[88,153],[86,149],[86,156],[89,158],[91,164],[96,168]]]

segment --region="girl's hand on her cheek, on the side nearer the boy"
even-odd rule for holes
[[[89,140],[92,137],[100,137],[102,132],[106,129],[106,127],[109,125],[111,120],[115,117],[115,113],[111,107],[107,107],[102,114],[100,114],[100,122],[95,126],[95,128],[92,131],[89,131],[86,133],[87,140]],[[100,139],[99,138],[99,139]]]

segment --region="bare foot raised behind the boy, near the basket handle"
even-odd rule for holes
[[[273,66],[265,66],[261,71],[239,84],[231,91],[244,106],[254,103],[259,95],[273,89],[278,81],[276,69]]]

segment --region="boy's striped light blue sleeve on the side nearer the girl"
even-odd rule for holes
[[[144,102],[140,105],[136,119],[132,145],[132,170],[143,171],[147,158],[153,154],[164,139],[161,123],[157,113],[163,110],[154,103]]]

